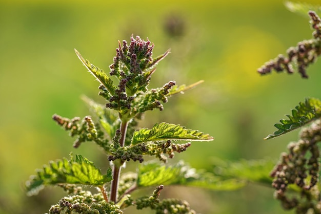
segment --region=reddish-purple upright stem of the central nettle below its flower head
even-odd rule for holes
[[[121,123],[121,146],[125,145],[126,132],[127,132],[128,121],[122,121]],[[117,202],[117,193],[118,193],[118,183],[119,183],[119,175],[121,174],[121,169],[125,161],[121,161],[120,163],[115,161],[113,166],[113,180],[111,182],[110,189],[110,200],[113,202]]]

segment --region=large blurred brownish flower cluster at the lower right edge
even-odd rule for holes
[[[302,130],[298,142],[289,144],[289,153],[281,155],[280,162],[271,172],[271,176],[274,177],[272,186],[276,189],[275,197],[282,202],[286,209],[303,206],[295,197],[292,199],[287,197],[286,191],[290,184],[296,184],[301,189],[300,196],[306,196],[310,208],[315,206],[310,202],[313,200],[310,195],[315,191],[314,188],[319,177],[320,152],[316,144],[319,141],[321,141],[321,121],[317,120]],[[321,209],[319,210],[321,211]]]

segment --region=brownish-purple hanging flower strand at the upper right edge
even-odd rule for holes
[[[298,42],[296,47],[291,47],[287,51],[287,57],[282,54],[278,55],[265,63],[264,66],[257,70],[260,74],[271,73],[272,70],[282,72],[286,70],[289,74],[294,72],[291,63],[296,62],[298,72],[303,78],[308,78],[306,73],[307,67],[313,63],[321,54],[321,19],[313,11],[309,12],[311,17],[311,26],[315,30],[313,39]]]

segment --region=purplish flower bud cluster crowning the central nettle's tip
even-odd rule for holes
[[[132,107],[132,101],[140,92],[147,92],[153,67],[169,53],[152,58],[154,44],[147,39],[144,41],[139,36],[131,37],[130,45],[123,40],[123,45],[118,41],[114,62],[110,65],[110,75],[116,76],[119,80],[118,87],[114,89],[114,94],[110,95],[104,85],[100,85],[99,95],[105,97],[109,102],[107,108],[117,111],[128,111]],[[159,102],[159,101],[158,101]],[[154,108],[160,105],[153,103]]]

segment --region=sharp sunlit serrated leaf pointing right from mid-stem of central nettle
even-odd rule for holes
[[[156,123],[152,129],[141,129],[134,132],[132,144],[148,141],[189,140],[209,141],[214,138],[197,130],[186,129],[184,126],[170,123]]]

